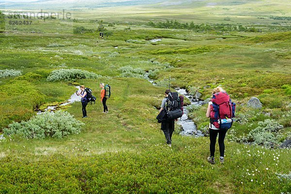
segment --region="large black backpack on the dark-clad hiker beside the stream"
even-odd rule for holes
[[[167,114],[170,120],[180,118],[183,113],[181,111],[180,98],[178,97],[178,92],[170,92],[167,98]]]

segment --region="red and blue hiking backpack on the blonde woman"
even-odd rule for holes
[[[230,129],[235,117],[236,104],[231,102],[226,92],[213,95],[210,105],[210,123],[217,129]]]

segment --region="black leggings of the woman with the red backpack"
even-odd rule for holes
[[[209,137],[210,137],[210,156],[214,157],[215,152],[215,144],[216,144],[216,137],[218,136],[218,145],[219,145],[219,152],[220,156],[224,157],[225,145],[224,139],[226,137],[227,129],[209,129]]]

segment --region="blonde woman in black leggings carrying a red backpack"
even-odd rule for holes
[[[212,99],[208,103],[206,117],[210,117],[209,124],[209,137],[210,137],[210,157],[207,161],[211,164],[215,164],[214,152],[216,137],[218,136],[218,145],[221,164],[224,163],[225,144],[224,140],[226,132],[231,128],[233,117],[235,116],[235,103],[231,102],[231,99],[227,93],[221,88],[214,88],[212,91]]]

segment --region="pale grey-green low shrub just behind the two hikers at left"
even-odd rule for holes
[[[80,79],[98,79],[100,75],[81,69],[57,69],[53,70],[47,81],[76,81]]]

